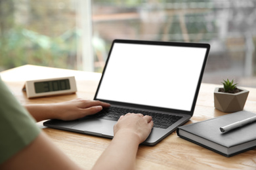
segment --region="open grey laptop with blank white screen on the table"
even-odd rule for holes
[[[94,98],[111,107],[79,120],[43,124],[112,138],[119,116],[142,113],[154,122],[143,144],[155,145],[192,117],[209,48],[204,43],[116,39]]]

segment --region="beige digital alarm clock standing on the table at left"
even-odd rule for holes
[[[28,98],[77,92],[74,76],[29,80],[22,90]]]

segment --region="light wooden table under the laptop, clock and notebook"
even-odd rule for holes
[[[16,67],[0,74],[3,81],[22,104],[56,103],[77,97],[93,99],[101,76],[100,73],[35,65]],[[26,80],[51,76],[75,76],[77,93],[28,99],[26,92],[22,92],[22,86]],[[221,85],[202,84],[194,116],[187,124],[224,115],[213,105],[213,91],[217,86]],[[256,88],[245,89],[250,92],[244,110],[256,112]],[[56,147],[60,148],[81,167],[87,169],[93,167],[97,158],[110,144],[110,139],[47,128],[42,126],[42,122],[37,124],[49,135]],[[256,169],[256,149],[226,158],[202,146],[181,139],[174,132],[156,146],[141,145],[137,154],[137,169]]]

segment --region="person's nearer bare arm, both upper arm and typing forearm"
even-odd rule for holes
[[[134,169],[138,146],[152,129],[152,117],[126,114],[114,126],[114,139],[93,169]],[[85,153],[86,154],[86,153]],[[0,169],[81,169],[41,131],[26,148],[0,165]]]

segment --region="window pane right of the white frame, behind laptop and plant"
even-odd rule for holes
[[[256,87],[256,1],[93,0],[96,71],[114,39],[211,44],[203,82]]]

